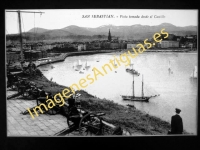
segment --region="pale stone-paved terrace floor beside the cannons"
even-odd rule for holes
[[[7,91],[7,96],[16,93]],[[7,100],[7,135],[8,136],[54,136],[67,128],[67,119],[60,115],[39,114],[34,119],[21,112],[36,106],[36,100],[25,100],[21,96]],[[73,135],[69,134],[68,136]]]

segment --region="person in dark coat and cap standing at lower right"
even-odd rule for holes
[[[183,133],[183,120],[180,117],[181,110],[179,108],[175,109],[176,115],[171,118],[171,131],[168,134],[182,134]]]

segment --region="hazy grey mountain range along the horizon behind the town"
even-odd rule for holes
[[[48,30],[43,28],[33,28],[29,30],[26,35],[30,35],[33,37],[33,33],[37,33],[36,36],[40,39],[56,39],[56,38],[67,38],[67,39],[84,39],[91,37],[98,37],[96,35],[104,35],[102,37],[108,36],[108,31],[110,29],[111,35],[115,37],[119,37],[121,39],[146,39],[152,38],[154,33],[160,32],[161,29],[165,29],[166,32],[185,36],[197,34],[197,26],[185,26],[178,27],[170,23],[162,23],[160,25],[141,25],[134,24],[131,26],[115,26],[115,25],[103,25],[96,28],[88,28],[88,27],[79,27],[75,25],[70,25],[62,29]],[[34,32],[35,31],[35,32]],[[78,38],[76,38],[78,37]]]

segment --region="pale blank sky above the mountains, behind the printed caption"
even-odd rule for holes
[[[6,34],[19,33],[17,13],[6,11],[9,10],[5,10]],[[44,12],[42,15],[39,13],[21,13],[23,32],[29,31],[34,27],[61,29],[70,25],[92,28],[109,24],[115,26],[130,26],[134,24],[152,26],[171,23],[180,27],[198,25],[198,10],[195,9],[35,9],[22,11]],[[90,17],[82,18],[83,15],[90,15]],[[92,15],[114,15],[115,18],[92,18]],[[140,18],[129,18],[129,16],[137,15]],[[142,15],[149,18],[141,18]],[[123,18],[120,16],[123,16]]]

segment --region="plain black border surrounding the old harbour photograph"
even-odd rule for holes
[[[22,150],[22,149],[70,149],[70,148],[126,148],[131,149],[197,149],[199,128],[197,136],[142,136],[142,137],[7,137],[6,127],[6,87],[5,87],[5,9],[198,9],[198,1],[181,1],[181,0],[107,0],[94,2],[86,1],[44,1],[44,0],[21,0],[5,1],[1,8],[1,103],[0,103],[0,149]],[[198,14],[199,17],[199,14]],[[199,31],[199,29],[198,29]],[[199,35],[199,34],[198,34]],[[199,53],[198,53],[199,58]],[[199,66],[199,64],[198,64]],[[198,67],[199,68],[199,67]],[[199,92],[199,89],[198,89]],[[199,103],[198,103],[198,108]],[[199,114],[199,111],[198,111]],[[198,115],[199,116],[199,115]],[[198,118],[199,120],[199,118]],[[1,148],[1,146],[3,148]]]

